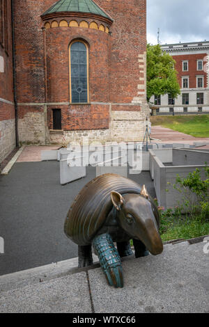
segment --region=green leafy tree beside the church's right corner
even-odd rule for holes
[[[162,51],[160,45],[147,45],[147,100],[152,95],[171,94],[173,98],[180,95],[177,79],[178,72],[174,69],[176,61]]]

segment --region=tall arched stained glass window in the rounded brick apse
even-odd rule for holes
[[[84,42],[70,46],[70,79],[71,102],[88,102],[88,49]]]

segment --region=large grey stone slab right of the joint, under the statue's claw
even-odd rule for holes
[[[123,289],[89,271],[95,313],[209,312],[209,255],[204,243],[169,244],[157,257],[123,262]]]

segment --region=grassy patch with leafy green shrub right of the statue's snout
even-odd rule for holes
[[[177,175],[173,188],[182,193],[182,201],[166,211],[159,207],[163,241],[189,239],[209,233],[209,167],[204,170],[206,179],[201,179],[199,168],[186,178]],[[189,214],[184,214],[185,207]]]

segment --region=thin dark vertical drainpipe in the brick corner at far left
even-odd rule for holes
[[[18,137],[18,110],[17,110],[17,79],[16,79],[16,61],[15,61],[15,24],[14,24],[14,0],[11,0],[11,17],[12,17],[12,42],[13,42],[13,90],[15,103],[15,138],[16,147],[19,147]]]

